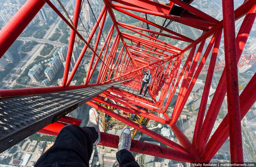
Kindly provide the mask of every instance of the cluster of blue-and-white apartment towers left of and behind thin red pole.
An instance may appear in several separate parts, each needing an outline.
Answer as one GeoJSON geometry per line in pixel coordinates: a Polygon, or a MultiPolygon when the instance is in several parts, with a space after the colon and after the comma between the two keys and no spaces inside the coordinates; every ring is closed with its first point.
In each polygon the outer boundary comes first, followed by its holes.
{"type": "MultiPolygon", "coordinates": [[[[65,61],[67,57],[68,48],[67,46],[62,46],[57,48],[54,53],[52,54],[52,57],[50,59],[44,60],[36,65],[34,65],[28,72],[28,76],[31,78],[32,82],[42,82],[42,84],[49,85],[56,75],[58,74],[59,70],[65,66],[65,61]],[[45,65],[46,68],[43,69],[42,65],[45,65]],[[44,75],[46,76],[46,79],[42,80],[42,71],[44,71],[44,75]]],[[[79,56],[79,49],[78,45],[75,44],[73,53],[72,53],[72,59],[70,63],[70,71],[72,71],[76,60],[79,56]]],[[[61,85],[60,82],[62,82],[61,79],[58,80],[58,85],[61,85]]],[[[72,81],[71,84],[76,85],[76,81],[72,81]]]]}

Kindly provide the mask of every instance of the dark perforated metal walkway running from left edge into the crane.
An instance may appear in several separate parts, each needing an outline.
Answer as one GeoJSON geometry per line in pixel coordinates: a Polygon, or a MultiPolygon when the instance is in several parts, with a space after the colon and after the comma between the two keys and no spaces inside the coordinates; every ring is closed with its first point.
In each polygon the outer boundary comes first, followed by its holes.
{"type": "Polygon", "coordinates": [[[118,83],[0,100],[0,152],[118,83]]]}

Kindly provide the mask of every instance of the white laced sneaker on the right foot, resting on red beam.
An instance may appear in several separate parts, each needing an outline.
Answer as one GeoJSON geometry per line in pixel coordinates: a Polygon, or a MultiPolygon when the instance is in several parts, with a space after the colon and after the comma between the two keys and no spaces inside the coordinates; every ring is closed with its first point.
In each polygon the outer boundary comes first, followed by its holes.
{"type": "Polygon", "coordinates": [[[132,136],[131,131],[128,127],[124,127],[119,135],[119,143],[118,143],[118,150],[126,149],[127,151],[130,150],[132,144],[132,136]]]}

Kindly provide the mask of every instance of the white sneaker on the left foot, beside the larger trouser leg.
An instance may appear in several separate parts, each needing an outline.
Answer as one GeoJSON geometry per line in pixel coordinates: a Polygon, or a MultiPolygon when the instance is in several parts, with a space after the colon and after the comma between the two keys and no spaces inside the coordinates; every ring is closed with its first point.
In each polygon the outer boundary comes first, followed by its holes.
{"type": "Polygon", "coordinates": [[[97,111],[94,108],[91,108],[89,111],[89,120],[87,126],[94,127],[96,132],[98,133],[98,138],[94,142],[94,144],[99,144],[100,142],[100,129],[99,129],[99,116],[97,111]]]}

